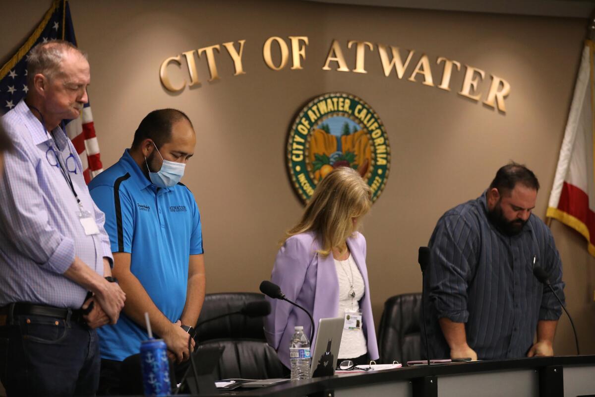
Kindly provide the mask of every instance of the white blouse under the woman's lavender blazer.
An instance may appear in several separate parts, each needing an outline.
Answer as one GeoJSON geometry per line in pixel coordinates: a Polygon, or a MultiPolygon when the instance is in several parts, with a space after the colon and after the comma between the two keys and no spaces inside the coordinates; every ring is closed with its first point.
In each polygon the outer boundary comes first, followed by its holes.
{"type": "MultiPolygon", "coordinates": [[[[359,300],[365,293],[365,285],[362,274],[359,273],[358,265],[353,260],[351,254],[345,261],[334,260],[337,270],[337,279],[339,279],[339,312],[337,317],[345,317],[346,310],[360,311],[359,300]],[[351,286],[355,296],[350,296],[351,286]]],[[[362,318],[363,320],[371,320],[362,318]]],[[[339,357],[337,358],[356,358],[368,352],[366,337],[364,331],[343,329],[343,337],[339,346],[339,357]]]]}

